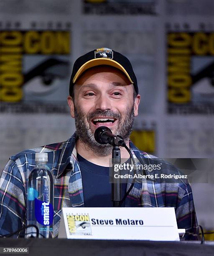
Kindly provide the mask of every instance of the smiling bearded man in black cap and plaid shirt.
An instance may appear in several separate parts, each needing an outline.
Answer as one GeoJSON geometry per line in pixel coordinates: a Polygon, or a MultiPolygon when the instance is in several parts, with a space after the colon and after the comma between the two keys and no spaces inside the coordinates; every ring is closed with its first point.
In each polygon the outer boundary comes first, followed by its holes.
{"type": "MultiPolygon", "coordinates": [[[[73,67],[68,104],[75,118],[76,132],[68,141],[23,151],[11,156],[0,180],[0,234],[6,235],[26,223],[26,184],[35,166],[35,153],[48,153],[48,166],[54,175],[53,235],[58,235],[62,207],[111,207],[109,166],[112,146],[94,139],[94,131],[106,126],[122,136],[136,164],[152,156],[129,141],[140,95],[130,61],[122,54],[100,48],[79,57],[73,67]],[[11,221],[12,220],[12,221],[11,221]]],[[[145,95],[146,96],[146,95],[145,95]]],[[[121,158],[129,159],[121,148],[121,158]]],[[[129,161],[129,160],[128,160],[129,161]]],[[[163,172],[178,170],[160,160],[163,172]]],[[[145,174],[150,174],[145,170],[145,174]]],[[[122,194],[133,179],[122,184],[122,194]]],[[[186,238],[196,238],[196,215],[192,191],[183,179],[160,182],[141,179],[125,199],[125,207],[175,207],[178,228],[186,228],[186,238]]]]}

